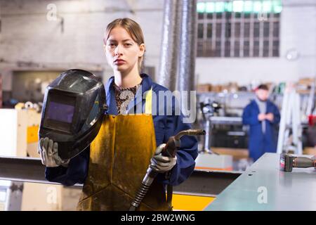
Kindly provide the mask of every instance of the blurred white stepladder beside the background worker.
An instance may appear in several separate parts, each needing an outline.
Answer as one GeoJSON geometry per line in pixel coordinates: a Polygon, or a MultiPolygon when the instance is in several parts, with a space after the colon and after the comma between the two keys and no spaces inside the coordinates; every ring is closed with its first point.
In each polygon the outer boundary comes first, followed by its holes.
{"type": "Polygon", "coordinates": [[[294,84],[287,83],[282,101],[281,121],[277,140],[277,153],[303,154],[301,100],[294,84]]]}

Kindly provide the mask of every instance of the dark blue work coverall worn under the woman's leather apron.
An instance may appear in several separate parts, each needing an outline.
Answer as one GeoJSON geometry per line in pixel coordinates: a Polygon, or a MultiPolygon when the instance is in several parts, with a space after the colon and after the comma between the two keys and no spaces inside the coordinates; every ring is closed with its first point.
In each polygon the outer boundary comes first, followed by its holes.
{"type": "MultiPolygon", "coordinates": [[[[143,99],[143,94],[145,91],[152,91],[159,97],[159,91],[168,91],[164,86],[152,82],[152,79],[146,75],[140,75],[143,80],[141,82],[141,89],[136,93],[136,97],[131,103],[129,103],[128,110],[134,108],[134,113],[137,113],[136,105],[145,105],[145,99],[143,99]]],[[[109,106],[106,114],[117,115],[117,105],[115,101],[115,91],[112,86],[114,82],[114,77],[110,77],[107,85],[105,86],[105,92],[107,97],[107,105],[109,106]]],[[[159,102],[162,98],[152,101],[152,104],[157,103],[157,115],[152,115],[154,121],[154,131],[156,136],[156,143],[159,146],[161,143],[166,143],[170,136],[176,135],[179,131],[185,129],[191,129],[191,125],[183,123],[183,115],[175,115],[175,98],[173,98],[172,103],[172,115],[167,115],[166,113],[166,97],[164,99],[164,104],[161,105],[159,102]],[[164,106],[160,108],[159,106],[164,106]],[[159,115],[159,110],[164,110],[164,115],[159,115]]],[[[144,110],[145,107],[138,107],[138,110],[144,110]]],[[[139,112],[144,113],[144,112],[139,112]]],[[[180,150],[177,153],[177,163],[171,169],[171,176],[166,179],[164,174],[159,174],[157,176],[158,181],[163,184],[171,184],[176,186],[185,179],[187,179],[190,174],[192,174],[195,168],[195,158],[197,158],[197,139],[195,136],[183,136],[181,139],[180,150]]],[[[139,156],[141,157],[141,156],[139,156]]],[[[48,181],[58,182],[65,186],[72,186],[74,184],[83,184],[86,176],[88,174],[88,162],[89,162],[89,148],[84,150],[82,153],[70,160],[68,167],[46,167],[45,176],[48,181]]],[[[124,168],[121,168],[124,169],[124,168]]],[[[144,174],[145,176],[145,174],[144,174]]],[[[133,178],[131,178],[133,179],[133,178]]]]}

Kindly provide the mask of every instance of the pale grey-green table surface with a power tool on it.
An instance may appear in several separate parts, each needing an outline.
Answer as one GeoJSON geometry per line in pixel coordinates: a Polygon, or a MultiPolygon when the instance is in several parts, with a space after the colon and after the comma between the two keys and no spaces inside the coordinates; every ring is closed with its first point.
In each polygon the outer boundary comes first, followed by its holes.
{"type": "Polygon", "coordinates": [[[316,210],[316,169],[282,172],[279,154],[265,153],[204,210],[316,210]]]}

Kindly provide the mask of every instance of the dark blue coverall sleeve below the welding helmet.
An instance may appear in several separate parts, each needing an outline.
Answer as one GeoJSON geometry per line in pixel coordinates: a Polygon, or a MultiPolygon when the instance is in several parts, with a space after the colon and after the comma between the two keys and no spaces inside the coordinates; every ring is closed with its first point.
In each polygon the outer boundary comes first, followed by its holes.
{"type": "Polygon", "coordinates": [[[74,184],[83,184],[88,174],[88,160],[90,148],[88,147],[82,153],[72,158],[68,167],[46,167],[45,178],[48,181],[72,186],[74,184]]]}

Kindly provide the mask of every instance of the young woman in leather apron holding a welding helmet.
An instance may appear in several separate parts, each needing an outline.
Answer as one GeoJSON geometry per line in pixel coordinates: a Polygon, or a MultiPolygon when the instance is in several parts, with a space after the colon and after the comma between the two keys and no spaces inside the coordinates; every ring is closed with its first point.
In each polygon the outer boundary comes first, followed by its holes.
{"type": "MultiPolygon", "coordinates": [[[[53,156],[42,159],[46,179],[66,186],[84,183],[78,210],[129,210],[150,165],[159,175],[138,210],[171,210],[165,187],[180,184],[193,172],[197,139],[183,136],[176,158],[154,154],[161,152],[170,136],[191,127],[176,115],[175,104],[172,115],[167,115],[167,98],[153,101],[159,91],[168,89],[140,74],[145,42],[138,23],[129,18],[112,21],[104,49],[114,76],[105,87],[109,108],[103,125],[90,148],[70,162],[53,156]],[[163,115],[152,113],[153,108],[163,115]]],[[[52,148],[53,140],[40,140],[41,152],[51,153],[52,148]]]]}

